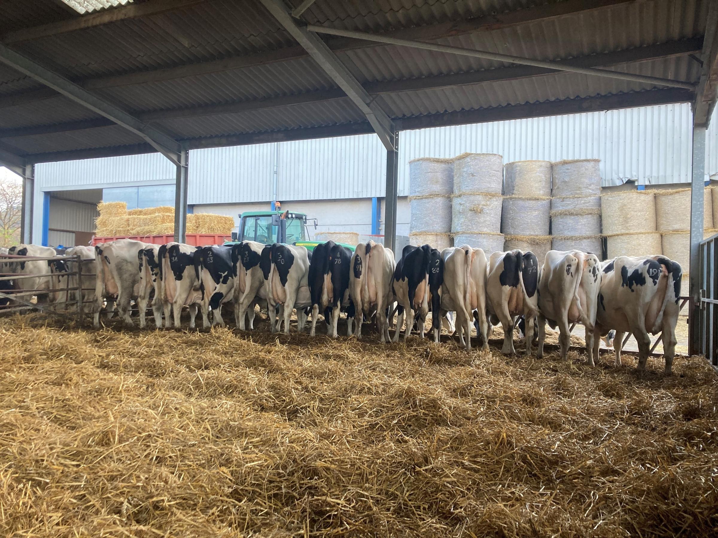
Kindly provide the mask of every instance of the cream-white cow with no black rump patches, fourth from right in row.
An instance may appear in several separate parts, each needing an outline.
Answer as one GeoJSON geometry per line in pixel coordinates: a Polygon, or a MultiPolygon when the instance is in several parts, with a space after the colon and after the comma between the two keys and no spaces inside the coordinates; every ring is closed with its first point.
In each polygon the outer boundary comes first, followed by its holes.
{"type": "Polygon", "coordinates": [[[482,350],[488,351],[489,324],[486,318],[486,278],[488,262],[484,251],[468,245],[442,250],[444,285],[442,310],[457,314],[457,334],[460,344],[471,349],[472,313],[475,311],[477,332],[482,350]],[[466,333],[466,342],[464,335],[466,333]]]}

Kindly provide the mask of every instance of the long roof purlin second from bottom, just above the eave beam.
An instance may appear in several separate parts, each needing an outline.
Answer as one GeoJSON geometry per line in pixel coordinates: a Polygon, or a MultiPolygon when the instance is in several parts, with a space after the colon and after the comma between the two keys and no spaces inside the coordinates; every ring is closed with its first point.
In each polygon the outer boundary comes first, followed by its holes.
{"type": "MultiPolygon", "coordinates": [[[[604,52],[597,55],[558,61],[566,62],[569,65],[580,65],[583,67],[618,65],[629,62],[645,62],[649,60],[690,55],[694,52],[700,52],[701,44],[702,39],[700,38],[684,39],[681,41],[647,45],[645,47],[635,47],[633,49],[604,52]]],[[[365,85],[364,88],[370,94],[396,93],[435,88],[456,88],[462,85],[475,85],[484,82],[520,80],[527,77],[551,75],[557,72],[560,71],[547,70],[542,67],[498,67],[491,70],[465,72],[457,75],[437,75],[407,80],[371,82],[370,84],[365,85]]],[[[236,103],[225,103],[222,105],[205,105],[199,107],[178,108],[174,110],[157,110],[136,113],[135,116],[141,121],[200,118],[210,115],[266,110],[268,108],[302,105],[308,103],[330,103],[332,101],[342,99],[347,99],[347,96],[344,92],[342,92],[342,90],[337,88],[335,90],[321,90],[318,92],[286,95],[279,98],[264,100],[238,101],[236,103]]],[[[96,120],[55,123],[47,126],[11,128],[0,130],[0,138],[14,138],[17,136],[36,136],[48,133],[60,133],[64,131],[78,131],[108,125],[113,125],[113,122],[106,120],[105,118],[98,118],[96,120]]]]}

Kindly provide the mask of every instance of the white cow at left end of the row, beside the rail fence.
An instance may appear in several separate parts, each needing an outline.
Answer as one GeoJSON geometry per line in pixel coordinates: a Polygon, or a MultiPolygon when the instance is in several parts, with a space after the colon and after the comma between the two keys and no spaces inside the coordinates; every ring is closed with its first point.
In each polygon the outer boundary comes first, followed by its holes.
{"type": "Polygon", "coordinates": [[[139,253],[149,243],[131,239],[118,239],[95,245],[95,319],[100,326],[100,311],[106,297],[117,298],[117,312],[123,321],[133,325],[130,318],[130,301],[139,296],[139,253]]]}

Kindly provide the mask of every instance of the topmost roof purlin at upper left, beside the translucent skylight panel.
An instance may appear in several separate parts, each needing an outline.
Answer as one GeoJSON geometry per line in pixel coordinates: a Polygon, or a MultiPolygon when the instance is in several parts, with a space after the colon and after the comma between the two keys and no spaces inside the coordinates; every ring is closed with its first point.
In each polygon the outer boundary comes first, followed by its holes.
{"type": "Polygon", "coordinates": [[[105,9],[98,13],[88,15],[76,14],[73,19],[65,21],[51,22],[50,24],[42,24],[29,28],[22,28],[7,32],[0,41],[9,44],[41,37],[50,37],[53,35],[67,34],[67,32],[75,32],[86,28],[101,26],[102,24],[110,24],[111,22],[126,21],[129,19],[138,19],[142,16],[158,15],[166,11],[176,11],[196,4],[202,4],[207,0],[153,0],[142,4],[128,4],[111,9],[105,9]]]}

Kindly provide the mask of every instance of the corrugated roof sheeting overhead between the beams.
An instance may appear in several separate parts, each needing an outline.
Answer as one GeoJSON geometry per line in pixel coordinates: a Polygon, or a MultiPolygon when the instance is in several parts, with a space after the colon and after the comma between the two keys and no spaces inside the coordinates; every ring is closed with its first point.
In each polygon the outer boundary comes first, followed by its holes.
{"type": "MultiPolygon", "coordinates": [[[[50,8],[45,4],[47,2],[42,0],[4,1],[0,4],[0,21],[6,16],[9,22],[0,22],[0,28],[15,30],[72,18],[62,8],[58,11],[57,6],[50,8]],[[23,14],[21,4],[27,13],[23,14]],[[34,12],[35,7],[37,12],[34,12]]],[[[299,1],[295,0],[294,4],[298,5],[299,1]]],[[[375,0],[370,3],[317,0],[305,12],[304,18],[314,24],[381,32],[465,21],[543,4],[546,2],[531,0],[375,0]]],[[[701,37],[705,31],[708,5],[709,0],[627,2],[508,27],[499,25],[495,29],[439,39],[439,42],[543,60],[566,59],[701,37]]],[[[208,0],[174,11],[39,37],[12,46],[62,75],[82,82],[105,75],[146,72],[297,47],[297,43],[279,27],[279,23],[258,0],[208,0]]],[[[362,83],[440,76],[508,65],[493,60],[381,44],[339,52],[338,56],[362,83]]],[[[615,69],[691,82],[699,76],[698,63],[687,56],[633,63],[615,69]]],[[[0,68],[0,96],[34,88],[41,87],[14,70],[0,68]]],[[[210,75],[92,91],[127,110],[143,113],[258,101],[333,88],[336,88],[335,82],[314,60],[305,56],[210,75]]],[[[386,93],[382,95],[381,102],[392,118],[407,118],[651,88],[654,85],[562,73],[386,93]]],[[[62,97],[0,108],[1,128],[97,117],[62,97]]],[[[335,100],[167,120],[157,124],[167,128],[173,136],[186,140],[363,121],[365,118],[353,103],[335,100]]],[[[27,154],[45,153],[50,151],[48,148],[72,150],[119,146],[136,141],[134,136],[122,136],[113,129],[95,129],[92,132],[95,136],[68,133],[65,137],[47,134],[4,140],[27,154]]]]}

